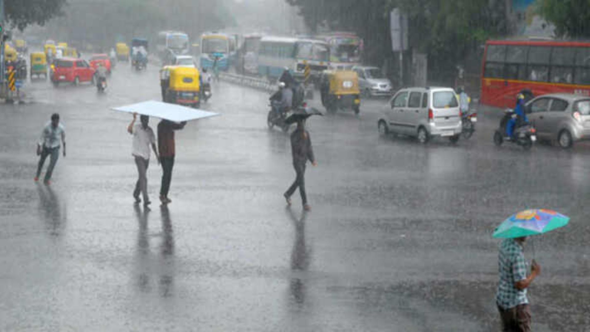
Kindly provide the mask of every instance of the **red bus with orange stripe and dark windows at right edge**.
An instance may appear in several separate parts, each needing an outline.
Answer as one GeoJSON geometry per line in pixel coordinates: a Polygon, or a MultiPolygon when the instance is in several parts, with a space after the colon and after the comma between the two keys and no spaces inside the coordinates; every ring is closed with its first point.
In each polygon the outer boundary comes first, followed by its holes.
{"type": "Polygon", "coordinates": [[[513,108],[516,95],[576,93],[590,96],[590,43],[487,41],[481,71],[481,103],[513,108]]]}

